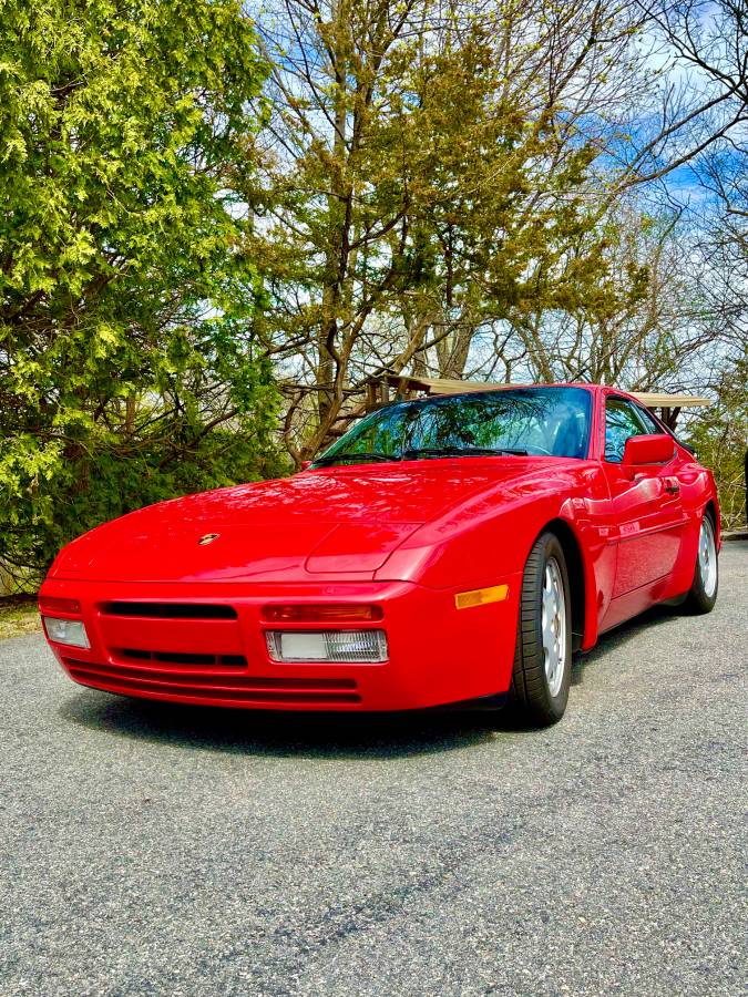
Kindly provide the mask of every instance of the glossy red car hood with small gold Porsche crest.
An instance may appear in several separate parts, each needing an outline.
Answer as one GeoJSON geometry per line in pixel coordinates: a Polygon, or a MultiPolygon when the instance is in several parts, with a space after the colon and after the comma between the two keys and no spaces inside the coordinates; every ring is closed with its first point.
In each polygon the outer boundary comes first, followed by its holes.
{"type": "Polygon", "coordinates": [[[50,577],[298,582],[345,574],[371,578],[419,526],[478,492],[524,476],[527,464],[518,458],[471,458],[329,467],[187,495],[84,534],[60,553],[50,577]],[[208,534],[216,536],[206,542],[208,534]]]}

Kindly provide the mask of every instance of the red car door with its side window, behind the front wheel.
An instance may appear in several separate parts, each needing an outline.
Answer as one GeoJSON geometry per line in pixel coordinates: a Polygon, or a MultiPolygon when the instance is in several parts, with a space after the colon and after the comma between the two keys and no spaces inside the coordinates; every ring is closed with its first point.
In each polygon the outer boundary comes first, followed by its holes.
{"type": "Polygon", "coordinates": [[[662,429],[639,405],[621,395],[606,397],[603,469],[618,536],[614,599],[668,575],[680,548],[684,514],[675,445],[665,464],[623,463],[629,436],[659,433],[662,429]]]}

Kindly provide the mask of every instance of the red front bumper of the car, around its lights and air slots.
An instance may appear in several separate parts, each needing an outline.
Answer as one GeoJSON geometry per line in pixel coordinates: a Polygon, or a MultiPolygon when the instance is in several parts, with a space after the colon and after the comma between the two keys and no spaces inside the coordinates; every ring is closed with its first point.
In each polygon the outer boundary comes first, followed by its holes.
{"type": "MultiPolygon", "coordinates": [[[[146,699],[283,710],[401,710],[509,688],[516,634],[514,578],[501,603],[458,610],[454,592],[406,582],[252,585],[48,579],[41,595],[81,604],[90,649],[50,646],[76,682],[146,699]],[[123,602],[230,606],[235,618],[115,615],[123,602]],[[270,660],[262,609],[273,603],[366,603],[387,633],[382,664],[270,660]]],[[[286,625],[284,625],[286,627],[286,625]]],[[[293,628],[294,625],[287,625],[293,628]]],[[[357,625],[359,626],[359,625],[357,625]]],[[[366,625],[360,625],[366,626],[366,625]]],[[[309,624],[298,626],[309,629],[309,624]]],[[[329,624],[320,624],[320,629],[329,624]]]]}

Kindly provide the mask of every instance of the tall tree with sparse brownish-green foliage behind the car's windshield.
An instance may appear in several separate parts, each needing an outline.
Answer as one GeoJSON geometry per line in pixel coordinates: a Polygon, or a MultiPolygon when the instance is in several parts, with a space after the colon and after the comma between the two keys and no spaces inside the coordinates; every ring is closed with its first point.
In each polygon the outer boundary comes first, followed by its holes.
{"type": "MultiPolygon", "coordinates": [[[[454,24],[432,0],[385,9],[342,2],[326,20],[287,0],[266,25],[273,141],[247,197],[269,192],[273,209],[250,245],[270,302],[262,332],[296,378],[297,462],[339,435],[367,372],[424,366],[431,350],[439,374],[461,377],[481,329],[621,298],[588,197],[601,145],[545,79],[555,44],[492,4],[454,24]]],[[[618,35],[616,17],[592,33],[618,35]]]]}

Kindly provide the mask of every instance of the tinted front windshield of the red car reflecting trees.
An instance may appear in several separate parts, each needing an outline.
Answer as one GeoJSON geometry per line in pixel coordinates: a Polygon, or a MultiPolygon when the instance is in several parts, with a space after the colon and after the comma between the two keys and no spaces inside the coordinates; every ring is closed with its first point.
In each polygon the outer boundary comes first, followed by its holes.
{"type": "Polygon", "coordinates": [[[591,409],[584,388],[513,388],[399,402],[362,419],[315,466],[494,453],[584,458],[591,409]]]}

